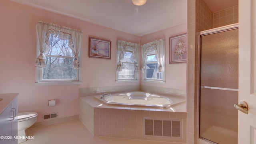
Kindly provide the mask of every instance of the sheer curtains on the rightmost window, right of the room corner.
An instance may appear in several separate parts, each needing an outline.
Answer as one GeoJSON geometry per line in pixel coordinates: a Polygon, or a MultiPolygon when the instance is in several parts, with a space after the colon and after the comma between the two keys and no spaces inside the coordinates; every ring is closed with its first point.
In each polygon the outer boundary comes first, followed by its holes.
{"type": "Polygon", "coordinates": [[[142,55],[142,68],[141,72],[144,72],[146,68],[146,62],[148,59],[148,54],[155,54],[156,60],[158,61],[158,70],[159,72],[163,71],[164,64],[164,54],[165,54],[165,40],[160,39],[154,42],[149,42],[141,46],[141,55],[142,55]]]}

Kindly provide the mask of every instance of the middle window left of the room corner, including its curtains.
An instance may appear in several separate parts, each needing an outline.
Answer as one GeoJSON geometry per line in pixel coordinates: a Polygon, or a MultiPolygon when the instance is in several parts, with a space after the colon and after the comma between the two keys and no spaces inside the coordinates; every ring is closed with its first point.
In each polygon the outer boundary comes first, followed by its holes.
{"type": "Polygon", "coordinates": [[[116,81],[138,80],[138,44],[117,42],[116,81]]]}

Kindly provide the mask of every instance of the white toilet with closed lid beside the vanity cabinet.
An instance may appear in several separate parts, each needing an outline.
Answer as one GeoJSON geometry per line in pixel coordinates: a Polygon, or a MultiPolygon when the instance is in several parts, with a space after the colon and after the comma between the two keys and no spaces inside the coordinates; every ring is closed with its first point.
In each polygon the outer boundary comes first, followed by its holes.
{"type": "MultiPolygon", "coordinates": [[[[36,112],[18,113],[18,136],[26,136],[25,130],[36,122],[37,115],[36,112]]],[[[18,144],[25,141],[26,139],[18,139],[18,144]]]]}

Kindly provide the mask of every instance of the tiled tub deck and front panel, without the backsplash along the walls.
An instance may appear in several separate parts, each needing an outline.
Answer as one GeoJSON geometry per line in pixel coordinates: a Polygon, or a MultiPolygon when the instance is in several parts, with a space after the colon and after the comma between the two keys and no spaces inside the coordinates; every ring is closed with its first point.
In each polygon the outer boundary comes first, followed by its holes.
{"type": "Polygon", "coordinates": [[[170,108],[150,108],[106,105],[95,96],[82,96],[79,105],[79,118],[94,136],[186,143],[186,102],[170,108]],[[179,120],[181,135],[148,136],[144,132],[145,119],[179,120]]]}

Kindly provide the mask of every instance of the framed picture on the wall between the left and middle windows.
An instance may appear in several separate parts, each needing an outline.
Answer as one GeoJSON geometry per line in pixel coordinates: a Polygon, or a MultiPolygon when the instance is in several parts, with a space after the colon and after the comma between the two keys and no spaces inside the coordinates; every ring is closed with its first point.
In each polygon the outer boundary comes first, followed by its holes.
{"type": "Polygon", "coordinates": [[[89,58],[111,59],[111,41],[89,37],[89,58]]]}

